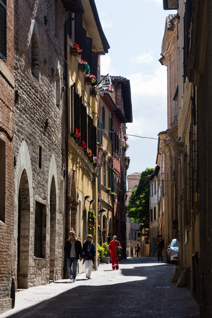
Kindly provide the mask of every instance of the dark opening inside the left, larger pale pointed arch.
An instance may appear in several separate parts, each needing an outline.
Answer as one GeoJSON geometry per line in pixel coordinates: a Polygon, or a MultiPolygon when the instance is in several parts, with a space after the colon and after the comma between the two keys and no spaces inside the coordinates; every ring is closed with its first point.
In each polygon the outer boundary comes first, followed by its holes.
{"type": "Polygon", "coordinates": [[[28,288],[30,247],[30,193],[24,169],[18,190],[17,288],[28,288]]]}

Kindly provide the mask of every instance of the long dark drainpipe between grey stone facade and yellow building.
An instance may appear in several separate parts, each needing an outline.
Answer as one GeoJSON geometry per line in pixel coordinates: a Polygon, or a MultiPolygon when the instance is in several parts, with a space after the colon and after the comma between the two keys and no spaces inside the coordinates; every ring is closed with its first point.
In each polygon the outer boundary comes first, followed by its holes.
{"type": "MultiPolygon", "coordinates": [[[[67,65],[67,59],[68,59],[68,52],[67,52],[67,24],[71,23],[72,21],[76,20],[77,18],[81,17],[83,13],[85,12],[83,9],[83,5],[81,3],[81,0],[77,0],[77,4],[80,10],[80,14],[78,16],[73,17],[72,19],[69,19],[65,22],[64,26],[64,33],[65,33],[65,162],[66,162],[66,178],[65,178],[65,239],[67,240],[69,237],[69,227],[68,227],[68,65],[67,65]]],[[[67,278],[67,259],[65,257],[65,268],[64,268],[64,278],[67,278]]]]}

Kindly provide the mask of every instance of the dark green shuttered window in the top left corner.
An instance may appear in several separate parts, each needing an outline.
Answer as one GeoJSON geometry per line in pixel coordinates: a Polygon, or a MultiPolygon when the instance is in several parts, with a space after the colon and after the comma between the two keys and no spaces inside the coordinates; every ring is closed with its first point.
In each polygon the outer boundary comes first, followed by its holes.
{"type": "Polygon", "coordinates": [[[0,58],[7,62],[7,0],[0,0],[0,58]]]}

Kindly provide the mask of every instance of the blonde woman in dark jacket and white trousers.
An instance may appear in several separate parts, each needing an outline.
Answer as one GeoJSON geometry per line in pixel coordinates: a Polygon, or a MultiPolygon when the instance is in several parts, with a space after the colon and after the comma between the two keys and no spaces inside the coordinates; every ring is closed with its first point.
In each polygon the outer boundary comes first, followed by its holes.
{"type": "Polygon", "coordinates": [[[96,255],[95,246],[92,242],[92,235],[87,235],[85,243],[83,244],[83,263],[85,262],[85,275],[87,279],[91,279],[92,264],[94,263],[94,256],[96,255]]]}

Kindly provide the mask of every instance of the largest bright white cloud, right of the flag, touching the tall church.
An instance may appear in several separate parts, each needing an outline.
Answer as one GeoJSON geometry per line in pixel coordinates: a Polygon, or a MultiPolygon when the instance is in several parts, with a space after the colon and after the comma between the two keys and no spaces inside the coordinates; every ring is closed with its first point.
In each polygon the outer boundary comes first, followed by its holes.
{"type": "Polygon", "coordinates": [[[143,73],[131,74],[131,93],[143,96],[167,96],[167,70],[166,67],[158,67],[154,73],[146,75],[143,73]]]}

